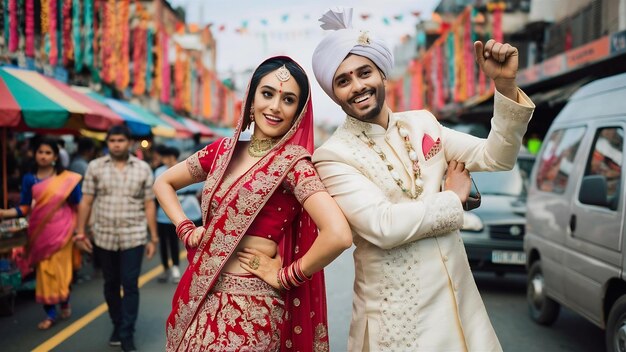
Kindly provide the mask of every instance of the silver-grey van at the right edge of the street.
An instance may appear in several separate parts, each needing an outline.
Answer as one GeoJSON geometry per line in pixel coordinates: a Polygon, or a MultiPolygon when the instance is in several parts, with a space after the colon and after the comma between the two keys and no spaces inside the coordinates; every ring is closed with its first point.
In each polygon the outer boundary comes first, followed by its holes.
{"type": "Polygon", "coordinates": [[[606,330],[607,351],[626,351],[625,131],[626,74],[580,88],[544,139],[526,213],[531,317],[550,325],[564,305],[606,330]]]}

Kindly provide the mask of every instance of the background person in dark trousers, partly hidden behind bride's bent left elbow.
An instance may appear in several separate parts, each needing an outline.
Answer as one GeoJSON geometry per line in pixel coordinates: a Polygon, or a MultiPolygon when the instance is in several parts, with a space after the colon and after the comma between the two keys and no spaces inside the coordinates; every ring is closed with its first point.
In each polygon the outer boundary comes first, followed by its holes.
{"type": "MultiPolygon", "coordinates": [[[[163,165],[154,171],[155,178],[178,163],[180,151],[175,147],[163,147],[160,150],[160,154],[163,165]]],[[[183,211],[196,226],[202,225],[202,211],[196,194],[202,190],[203,184],[203,182],[194,183],[176,191],[183,211]]],[[[178,283],[180,281],[180,269],[178,267],[180,249],[178,236],[176,235],[176,226],[174,226],[160,206],[157,209],[157,230],[161,245],[161,264],[163,265],[163,274],[157,280],[159,282],[167,282],[169,280],[173,283],[178,283]],[[169,264],[170,257],[172,259],[171,267],[169,264]]]]}

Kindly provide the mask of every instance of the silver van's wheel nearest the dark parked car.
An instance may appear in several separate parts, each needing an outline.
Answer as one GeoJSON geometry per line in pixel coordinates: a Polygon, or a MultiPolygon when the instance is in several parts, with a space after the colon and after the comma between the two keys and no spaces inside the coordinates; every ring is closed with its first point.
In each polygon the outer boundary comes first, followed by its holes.
{"type": "Polygon", "coordinates": [[[559,316],[561,306],[546,295],[540,260],[534,262],[528,270],[526,300],[530,317],[541,325],[551,325],[559,316]]]}

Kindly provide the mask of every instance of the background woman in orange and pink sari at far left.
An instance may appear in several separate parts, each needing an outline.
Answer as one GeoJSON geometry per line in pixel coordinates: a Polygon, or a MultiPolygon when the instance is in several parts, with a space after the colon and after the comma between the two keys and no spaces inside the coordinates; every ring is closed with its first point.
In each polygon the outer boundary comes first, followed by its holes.
{"type": "Polygon", "coordinates": [[[18,265],[22,273],[36,269],[35,298],[44,305],[46,318],[39,329],[49,329],[57,320],[69,318],[72,281],[72,234],[76,226],[76,205],[80,202],[81,176],[64,170],[59,147],[43,139],[35,150],[35,167],[22,179],[20,206],[0,209],[0,218],[29,215],[28,245],[18,265]]]}

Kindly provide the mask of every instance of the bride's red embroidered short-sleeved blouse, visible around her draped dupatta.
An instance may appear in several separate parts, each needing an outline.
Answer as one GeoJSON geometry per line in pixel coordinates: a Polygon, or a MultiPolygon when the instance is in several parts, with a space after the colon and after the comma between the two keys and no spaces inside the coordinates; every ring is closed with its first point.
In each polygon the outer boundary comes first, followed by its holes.
{"type": "MultiPolygon", "coordinates": [[[[216,159],[215,154],[219,149],[217,148],[219,142],[218,140],[187,158],[187,168],[194,180],[201,182],[208,176],[216,159]]],[[[235,181],[236,179],[226,176],[218,184],[208,207],[209,215],[213,214],[214,209],[235,181]]],[[[300,160],[287,173],[280,187],[261,208],[246,231],[246,235],[263,237],[279,243],[285,234],[285,228],[293,222],[300,211],[301,204],[312,194],[320,191],[326,191],[326,188],[313,167],[313,163],[308,159],[300,160]]],[[[204,219],[206,221],[207,217],[204,216],[204,219]]]]}

